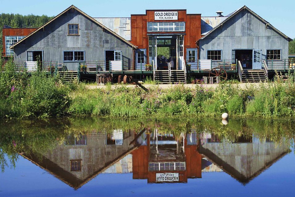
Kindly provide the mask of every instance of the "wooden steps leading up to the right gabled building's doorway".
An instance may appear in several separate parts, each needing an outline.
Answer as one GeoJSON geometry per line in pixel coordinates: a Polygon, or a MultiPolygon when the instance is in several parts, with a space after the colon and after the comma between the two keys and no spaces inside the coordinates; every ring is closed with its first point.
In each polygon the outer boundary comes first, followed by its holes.
{"type": "Polygon", "coordinates": [[[263,69],[261,70],[243,70],[242,74],[242,82],[249,82],[249,83],[255,83],[255,82],[266,82],[267,76],[263,69]]]}

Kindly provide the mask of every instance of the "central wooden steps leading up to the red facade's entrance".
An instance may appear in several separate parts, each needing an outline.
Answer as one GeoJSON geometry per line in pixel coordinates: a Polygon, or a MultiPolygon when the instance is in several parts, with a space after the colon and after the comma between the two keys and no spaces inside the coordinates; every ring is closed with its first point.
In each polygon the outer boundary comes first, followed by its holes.
{"type": "Polygon", "coordinates": [[[155,70],[155,80],[159,83],[186,83],[184,70],[155,70]],[[171,74],[169,73],[171,72],[171,74]]]}

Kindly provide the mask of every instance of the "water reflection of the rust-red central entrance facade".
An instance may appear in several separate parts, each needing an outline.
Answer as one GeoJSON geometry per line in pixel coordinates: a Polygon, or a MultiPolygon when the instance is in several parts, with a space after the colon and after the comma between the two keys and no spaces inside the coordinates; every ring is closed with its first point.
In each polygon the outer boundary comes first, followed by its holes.
{"type": "Polygon", "coordinates": [[[146,145],[132,152],[133,179],[147,179],[156,183],[157,174],[178,173],[178,182],[201,178],[202,156],[197,152],[196,135],[178,139],[175,135],[159,135],[157,131],[146,136],[146,145]],[[187,140],[189,139],[189,140],[187,140]],[[193,140],[190,140],[193,139],[193,140]]]}

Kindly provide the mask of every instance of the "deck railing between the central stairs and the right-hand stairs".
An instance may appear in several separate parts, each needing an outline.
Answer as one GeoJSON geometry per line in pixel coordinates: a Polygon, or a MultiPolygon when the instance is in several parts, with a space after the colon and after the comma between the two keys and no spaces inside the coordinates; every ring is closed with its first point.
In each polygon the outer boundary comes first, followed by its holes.
{"type": "Polygon", "coordinates": [[[221,67],[224,70],[238,70],[238,60],[232,60],[232,59],[224,59],[224,60],[212,60],[211,61],[211,65],[210,67],[206,66],[206,67],[202,67],[202,65],[200,64],[200,60],[189,60],[186,61],[186,67],[187,70],[208,70],[208,69],[212,69],[212,68],[216,68],[216,67],[221,67]]]}

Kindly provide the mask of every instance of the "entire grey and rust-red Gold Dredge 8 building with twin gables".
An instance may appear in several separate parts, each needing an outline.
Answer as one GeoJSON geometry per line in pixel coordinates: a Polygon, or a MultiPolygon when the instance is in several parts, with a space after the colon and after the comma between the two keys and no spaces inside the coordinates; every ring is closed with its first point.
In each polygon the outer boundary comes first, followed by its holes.
{"type": "Polygon", "coordinates": [[[146,10],[125,18],[92,18],[70,6],[9,49],[30,72],[40,57],[48,74],[70,71],[84,79],[151,75],[163,83],[186,83],[188,74],[216,76],[219,69],[218,75],[255,82],[271,78],[275,70],[294,70],[289,41],[247,6],[226,16],[146,10]]]}

